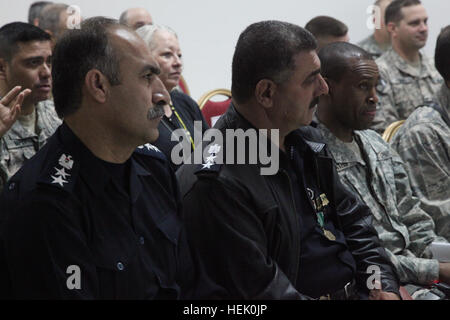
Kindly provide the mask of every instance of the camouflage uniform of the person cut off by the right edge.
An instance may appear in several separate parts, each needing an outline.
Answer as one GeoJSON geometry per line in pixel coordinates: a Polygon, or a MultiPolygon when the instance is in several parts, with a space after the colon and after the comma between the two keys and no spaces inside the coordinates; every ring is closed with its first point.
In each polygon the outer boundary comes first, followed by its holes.
{"type": "MultiPolygon", "coordinates": [[[[442,86],[438,103],[450,115],[450,90],[442,86]]],[[[417,109],[391,141],[406,164],[414,194],[450,241],[450,128],[439,112],[417,109]]]]}

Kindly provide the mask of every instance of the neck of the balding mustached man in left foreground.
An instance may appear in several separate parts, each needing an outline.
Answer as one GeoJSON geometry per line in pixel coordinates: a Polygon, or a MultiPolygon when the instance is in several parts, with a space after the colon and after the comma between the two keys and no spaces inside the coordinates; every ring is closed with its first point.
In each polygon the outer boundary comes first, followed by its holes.
{"type": "Polygon", "coordinates": [[[80,109],[66,117],[64,121],[97,158],[111,163],[125,163],[138,144],[130,147],[130,143],[124,141],[124,137],[120,137],[113,132],[114,130],[99,122],[99,117],[92,114],[86,116],[84,113],[85,111],[80,109]]]}

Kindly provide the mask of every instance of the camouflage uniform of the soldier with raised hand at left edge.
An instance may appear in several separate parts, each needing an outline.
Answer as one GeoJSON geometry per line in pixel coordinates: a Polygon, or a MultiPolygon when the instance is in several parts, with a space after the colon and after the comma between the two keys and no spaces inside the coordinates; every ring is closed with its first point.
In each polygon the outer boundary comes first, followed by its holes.
{"type": "Polygon", "coordinates": [[[36,133],[26,130],[16,121],[0,139],[0,191],[23,165],[47,142],[61,124],[53,101],[46,100],[36,106],[36,133]]]}

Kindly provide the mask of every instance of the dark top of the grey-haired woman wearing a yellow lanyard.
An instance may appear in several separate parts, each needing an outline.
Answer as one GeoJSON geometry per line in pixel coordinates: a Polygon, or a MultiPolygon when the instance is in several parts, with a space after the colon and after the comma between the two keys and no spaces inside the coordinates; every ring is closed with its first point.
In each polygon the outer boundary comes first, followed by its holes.
{"type": "MultiPolygon", "coordinates": [[[[158,127],[159,137],[153,143],[164,153],[167,159],[171,159],[172,149],[178,144],[178,140],[171,140],[172,133],[177,129],[184,129],[183,124],[188,131],[188,134],[186,133],[183,139],[188,139],[188,141],[190,140],[189,136],[192,138],[192,141],[194,140],[194,121],[201,121],[202,133],[209,129],[208,123],[205,121],[200,108],[191,97],[180,91],[173,90],[170,93],[170,98],[172,99],[172,105],[183,123],[178,119],[175,112],[172,112],[170,118],[164,116],[158,127]]],[[[193,150],[191,149],[191,151],[193,150]]],[[[172,161],[170,161],[170,164],[174,170],[180,167],[180,165],[175,165],[172,161]]]]}

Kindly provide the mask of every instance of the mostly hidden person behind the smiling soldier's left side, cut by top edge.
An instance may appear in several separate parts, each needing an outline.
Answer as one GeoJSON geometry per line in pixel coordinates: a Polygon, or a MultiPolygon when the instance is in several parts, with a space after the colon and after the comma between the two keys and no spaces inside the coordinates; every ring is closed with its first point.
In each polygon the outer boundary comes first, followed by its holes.
{"type": "Polygon", "coordinates": [[[369,52],[374,59],[379,58],[391,47],[389,32],[387,31],[384,23],[384,13],[386,11],[386,7],[391,3],[391,1],[392,0],[377,0],[375,2],[375,7],[378,7],[379,9],[379,11],[374,12],[374,18],[376,19],[375,31],[373,34],[358,43],[358,46],[369,52]]]}

